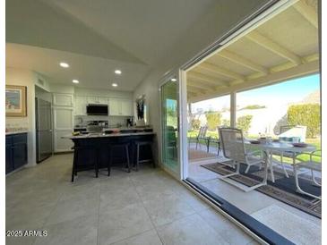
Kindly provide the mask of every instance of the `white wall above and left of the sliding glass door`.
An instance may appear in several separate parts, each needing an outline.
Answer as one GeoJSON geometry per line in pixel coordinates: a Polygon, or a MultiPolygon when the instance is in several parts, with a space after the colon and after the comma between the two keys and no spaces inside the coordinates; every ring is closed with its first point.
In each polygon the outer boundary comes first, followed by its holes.
{"type": "Polygon", "coordinates": [[[222,37],[228,30],[236,26],[239,21],[244,20],[247,15],[254,13],[254,11],[265,2],[267,1],[219,1],[209,13],[202,16],[200,21],[194,23],[190,30],[185,32],[183,38],[178,40],[175,46],[172,46],[170,52],[167,53],[167,57],[162,59],[160,66],[154,68],[134,90],[134,99],[140,95],[145,95],[145,99],[148,100],[150,110],[149,120],[153,125],[153,129],[157,132],[159,164],[161,164],[160,80],[168,71],[176,71],[178,67],[182,66],[195,55],[199,54],[203,49],[210,46],[215,40],[222,37]]]}

